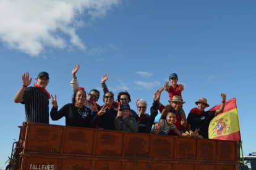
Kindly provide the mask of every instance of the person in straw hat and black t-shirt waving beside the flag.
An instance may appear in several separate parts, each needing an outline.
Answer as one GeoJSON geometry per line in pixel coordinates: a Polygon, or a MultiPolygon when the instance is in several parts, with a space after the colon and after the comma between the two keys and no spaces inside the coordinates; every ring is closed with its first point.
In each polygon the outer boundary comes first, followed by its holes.
{"type": "Polygon", "coordinates": [[[208,128],[211,119],[213,119],[218,114],[224,111],[226,94],[221,93],[222,103],[220,109],[215,111],[205,111],[205,108],[210,107],[207,103],[207,99],[200,98],[195,104],[197,108],[190,110],[189,116],[187,116],[187,131],[193,133],[195,129],[200,129],[198,131],[198,138],[208,139],[208,128]]]}

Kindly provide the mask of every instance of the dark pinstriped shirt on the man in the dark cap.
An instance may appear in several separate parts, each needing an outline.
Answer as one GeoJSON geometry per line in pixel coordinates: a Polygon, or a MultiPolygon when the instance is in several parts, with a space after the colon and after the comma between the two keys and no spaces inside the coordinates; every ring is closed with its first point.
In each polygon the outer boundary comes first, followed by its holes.
{"type": "Polygon", "coordinates": [[[27,87],[22,96],[27,121],[49,124],[49,99],[38,87],[27,87]]]}

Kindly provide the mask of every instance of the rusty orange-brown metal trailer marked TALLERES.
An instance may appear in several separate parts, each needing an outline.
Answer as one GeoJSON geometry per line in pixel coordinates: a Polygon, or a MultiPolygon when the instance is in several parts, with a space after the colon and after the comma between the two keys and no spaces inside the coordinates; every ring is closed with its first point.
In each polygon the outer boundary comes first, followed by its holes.
{"type": "Polygon", "coordinates": [[[240,169],[240,143],[228,140],[23,123],[14,169],[240,169]]]}

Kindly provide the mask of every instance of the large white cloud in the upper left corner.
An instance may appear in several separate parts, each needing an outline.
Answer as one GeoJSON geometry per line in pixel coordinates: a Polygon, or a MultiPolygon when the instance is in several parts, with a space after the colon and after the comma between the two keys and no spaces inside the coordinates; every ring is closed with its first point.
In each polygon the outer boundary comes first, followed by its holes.
{"type": "Polygon", "coordinates": [[[76,30],[92,26],[89,17],[102,18],[120,3],[121,0],[1,0],[0,40],[9,49],[31,56],[41,54],[46,47],[86,51],[76,30]],[[82,20],[85,17],[87,21],[82,20]]]}

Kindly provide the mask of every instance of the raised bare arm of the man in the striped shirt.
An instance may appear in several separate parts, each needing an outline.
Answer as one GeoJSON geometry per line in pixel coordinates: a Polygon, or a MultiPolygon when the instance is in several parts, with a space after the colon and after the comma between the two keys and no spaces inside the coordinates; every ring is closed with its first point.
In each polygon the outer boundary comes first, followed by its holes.
{"type": "Polygon", "coordinates": [[[20,87],[19,91],[15,94],[14,96],[14,102],[15,103],[20,103],[23,102],[23,94],[25,92],[25,90],[27,89],[27,87],[24,86],[29,86],[30,83],[32,81],[32,78],[29,79],[29,73],[27,72],[26,75],[25,73],[22,75],[22,87],[20,87]]]}

